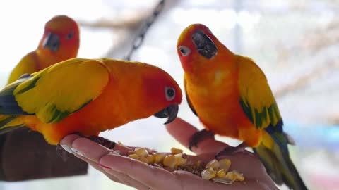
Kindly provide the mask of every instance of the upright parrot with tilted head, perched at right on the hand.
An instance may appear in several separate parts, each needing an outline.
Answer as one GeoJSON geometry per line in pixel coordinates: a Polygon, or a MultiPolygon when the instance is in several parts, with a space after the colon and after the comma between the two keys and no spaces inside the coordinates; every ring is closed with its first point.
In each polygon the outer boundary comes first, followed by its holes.
{"type": "Polygon", "coordinates": [[[250,58],[232,53],[208,27],[189,25],[177,42],[184,69],[186,99],[206,129],[191,137],[190,148],[204,136],[220,134],[244,141],[223,153],[254,148],[277,184],[307,189],[290,159],[283,120],[266,76],[250,58]]]}

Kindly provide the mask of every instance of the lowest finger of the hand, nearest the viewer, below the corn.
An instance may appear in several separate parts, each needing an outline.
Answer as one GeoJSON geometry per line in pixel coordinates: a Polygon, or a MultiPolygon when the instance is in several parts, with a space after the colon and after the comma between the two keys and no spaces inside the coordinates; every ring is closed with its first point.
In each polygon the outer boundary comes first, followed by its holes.
{"type": "Polygon", "coordinates": [[[160,167],[153,167],[131,158],[114,154],[103,156],[99,163],[128,175],[145,184],[145,186],[149,186],[150,189],[179,189],[177,177],[160,167]]]}

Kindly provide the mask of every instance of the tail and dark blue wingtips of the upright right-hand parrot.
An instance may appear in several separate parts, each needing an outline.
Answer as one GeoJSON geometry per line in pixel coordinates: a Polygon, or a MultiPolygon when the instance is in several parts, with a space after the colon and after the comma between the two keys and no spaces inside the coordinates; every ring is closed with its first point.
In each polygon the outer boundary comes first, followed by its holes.
{"type": "Polygon", "coordinates": [[[290,158],[287,144],[292,144],[292,141],[283,132],[283,122],[278,122],[275,127],[270,125],[265,130],[263,142],[253,149],[266,167],[268,175],[278,185],[286,184],[293,190],[307,190],[290,158]]]}

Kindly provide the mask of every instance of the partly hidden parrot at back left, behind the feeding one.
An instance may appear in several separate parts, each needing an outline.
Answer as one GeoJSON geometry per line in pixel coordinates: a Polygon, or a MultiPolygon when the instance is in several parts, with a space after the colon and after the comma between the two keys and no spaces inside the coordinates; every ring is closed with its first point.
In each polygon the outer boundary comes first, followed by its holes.
{"type": "Polygon", "coordinates": [[[54,16],[44,25],[44,34],[35,51],[24,56],[12,70],[7,84],[25,73],[33,73],[54,63],[75,58],[79,49],[79,27],[66,15],[54,16]]]}

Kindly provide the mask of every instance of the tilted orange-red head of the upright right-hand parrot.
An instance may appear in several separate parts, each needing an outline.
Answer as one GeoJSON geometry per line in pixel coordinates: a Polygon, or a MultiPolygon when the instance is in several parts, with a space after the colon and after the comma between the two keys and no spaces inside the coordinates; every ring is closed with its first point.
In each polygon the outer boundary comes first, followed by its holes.
{"type": "Polygon", "coordinates": [[[208,68],[218,58],[218,51],[226,47],[202,24],[186,27],[177,41],[177,53],[185,72],[194,72],[196,68],[208,68]]]}

